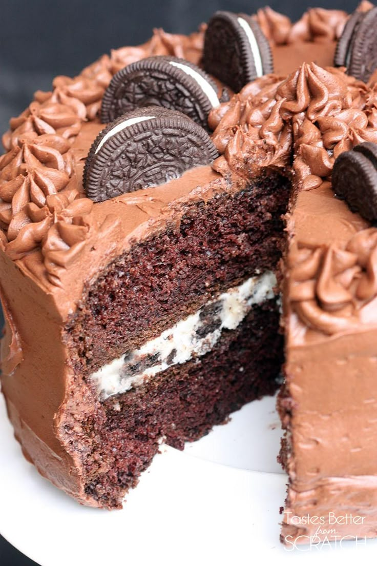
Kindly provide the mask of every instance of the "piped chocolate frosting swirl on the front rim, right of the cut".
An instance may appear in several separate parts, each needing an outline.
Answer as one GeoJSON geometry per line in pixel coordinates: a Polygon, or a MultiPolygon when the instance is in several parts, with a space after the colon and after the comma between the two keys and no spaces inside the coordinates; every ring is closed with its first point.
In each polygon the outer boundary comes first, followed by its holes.
{"type": "Polygon", "coordinates": [[[314,331],[333,335],[375,324],[377,229],[361,230],[344,246],[307,247],[289,255],[292,311],[314,331]]]}

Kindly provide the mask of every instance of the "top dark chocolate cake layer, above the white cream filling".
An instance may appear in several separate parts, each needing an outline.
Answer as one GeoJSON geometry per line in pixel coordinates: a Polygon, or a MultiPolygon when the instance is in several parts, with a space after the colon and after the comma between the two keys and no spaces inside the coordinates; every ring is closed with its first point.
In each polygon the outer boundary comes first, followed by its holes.
{"type": "Polygon", "coordinates": [[[98,370],[221,291],[275,269],[288,186],[279,173],[262,170],[236,194],[187,203],[178,225],[110,263],[66,325],[75,371],[98,370]]]}

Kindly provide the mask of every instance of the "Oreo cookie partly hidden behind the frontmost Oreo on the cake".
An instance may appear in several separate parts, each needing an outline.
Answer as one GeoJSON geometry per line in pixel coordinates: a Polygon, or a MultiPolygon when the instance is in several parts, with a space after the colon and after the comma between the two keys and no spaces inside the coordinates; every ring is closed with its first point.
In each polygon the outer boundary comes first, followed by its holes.
{"type": "Polygon", "coordinates": [[[220,104],[213,79],[193,63],[164,55],[141,59],[118,71],[102,99],[102,122],[141,106],[179,110],[208,129],[210,111],[220,104]]]}

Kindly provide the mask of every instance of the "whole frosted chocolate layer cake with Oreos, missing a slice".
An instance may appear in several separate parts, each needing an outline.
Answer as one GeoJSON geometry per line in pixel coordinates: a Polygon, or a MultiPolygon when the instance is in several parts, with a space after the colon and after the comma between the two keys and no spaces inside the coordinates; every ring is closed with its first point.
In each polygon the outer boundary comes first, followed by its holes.
{"type": "Polygon", "coordinates": [[[282,541],[323,539],[305,516],[348,511],[367,517],[340,535],[375,535],[377,230],[331,183],[339,156],[377,143],[375,66],[356,78],[335,51],[374,38],[350,45],[347,21],[217,12],[56,78],[11,120],[2,391],[25,456],[80,503],[121,507],[162,442],[271,395],[284,362],[282,541]]]}

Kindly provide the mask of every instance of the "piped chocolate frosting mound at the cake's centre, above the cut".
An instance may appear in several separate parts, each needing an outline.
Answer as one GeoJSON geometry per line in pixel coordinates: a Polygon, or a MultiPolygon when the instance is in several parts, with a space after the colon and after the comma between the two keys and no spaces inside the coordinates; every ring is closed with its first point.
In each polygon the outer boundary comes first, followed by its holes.
{"type": "MultiPolygon", "coordinates": [[[[298,186],[319,187],[330,178],[339,153],[361,141],[377,142],[376,93],[362,82],[332,67],[304,63],[287,79],[258,79],[210,114],[213,140],[234,169],[235,151],[245,177],[255,166],[283,168],[291,159],[298,186]]],[[[219,165],[215,162],[215,168],[219,165]]],[[[219,170],[219,169],[218,169],[219,170]]]]}

